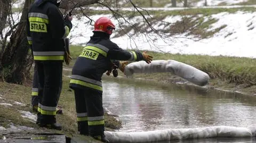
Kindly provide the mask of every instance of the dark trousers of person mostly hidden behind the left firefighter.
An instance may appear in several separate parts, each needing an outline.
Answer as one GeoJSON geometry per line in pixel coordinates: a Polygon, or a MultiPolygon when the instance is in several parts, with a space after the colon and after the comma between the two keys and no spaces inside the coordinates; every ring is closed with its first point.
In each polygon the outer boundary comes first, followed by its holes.
{"type": "MultiPolygon", "coordinates": [[[[58,94],[58,99],[57,99],[57,103],[59,102],[59,98],[60,98],[60,93],[61,93],[61,89],[62,89],[62,79],[61,79],[61,84],[59,87],[59,94],[58,94]]],[[[33,88],[32,88],[32,93],[31,93],[31,105],[33,108],[38,107],[38,85],[39,85],[39,81],[38,81],[38,73],[37,73],[37,68],[36,65],[34,67],[34,78],[33,78],[33,88]]]]}

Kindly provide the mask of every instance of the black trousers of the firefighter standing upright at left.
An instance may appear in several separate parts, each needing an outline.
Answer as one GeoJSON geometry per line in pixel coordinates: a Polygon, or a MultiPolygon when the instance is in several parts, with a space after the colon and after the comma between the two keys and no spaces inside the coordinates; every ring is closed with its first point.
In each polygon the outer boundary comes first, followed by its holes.
{"type": "Polygon", "coordinates": [[[35,61],[38,73],[38,121],[56,123],[56,106],[62,81],[62,61],[35,61]]]}

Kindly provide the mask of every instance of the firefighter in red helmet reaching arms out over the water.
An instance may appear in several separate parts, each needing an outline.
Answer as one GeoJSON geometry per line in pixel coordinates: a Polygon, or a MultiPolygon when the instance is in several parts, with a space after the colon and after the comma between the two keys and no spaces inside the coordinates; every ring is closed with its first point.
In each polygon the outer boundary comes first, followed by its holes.
{"type": "Polygon", "coordinates": [[[104,135],[101,77],[114,63],[124,71],[127,62],[151,63],[153,56],[146,52],[128,52],[110,41],[115,25],[106,17],[94,23],[93,36],[78,56],[73,66],[69,87],[75,91],[78,131],[102,142],[108,142],[104,135]],[[115,61],[113,61],[115,60],[115,61]]]}

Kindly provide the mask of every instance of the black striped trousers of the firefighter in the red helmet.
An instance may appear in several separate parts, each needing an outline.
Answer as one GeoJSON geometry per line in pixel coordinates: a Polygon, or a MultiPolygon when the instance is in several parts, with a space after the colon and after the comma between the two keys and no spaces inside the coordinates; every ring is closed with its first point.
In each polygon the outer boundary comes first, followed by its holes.
{"type": "Polygon", "coordinates": [[[78,131],[92,137],[104,134],[102,91],[74,88],[78,131]]]}

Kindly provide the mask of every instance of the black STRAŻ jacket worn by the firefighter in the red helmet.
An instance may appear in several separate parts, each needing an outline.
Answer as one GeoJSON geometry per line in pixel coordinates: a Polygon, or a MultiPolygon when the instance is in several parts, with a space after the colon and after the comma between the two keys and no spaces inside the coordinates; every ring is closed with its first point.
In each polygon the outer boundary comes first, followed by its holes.
{"type": "MultiPolygon", "coordinates": [[[[73,66],[70,88],[92,88],[102,91],[101,77],[110,70],[111,60],[141,61],[141,52],[128,52],[110,41],[104,32],[94,32],[73,66]]],[[[112,61],[113,62],[113,61],[112,61]]],[[[119,62],[113,63],[119,66],[119,62]]]]}

